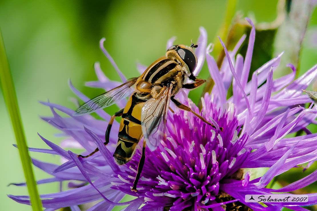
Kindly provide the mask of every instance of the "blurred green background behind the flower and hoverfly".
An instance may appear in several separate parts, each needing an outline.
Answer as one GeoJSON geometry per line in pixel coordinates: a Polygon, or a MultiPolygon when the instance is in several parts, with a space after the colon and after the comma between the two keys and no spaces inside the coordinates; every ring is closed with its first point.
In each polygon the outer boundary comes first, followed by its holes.
{"type": "MultiPolygon", "coordinates": [[[[0,27],[8,55],[18,103],[29,146],[47,148],[37,132],[59,143],[58,131],[39,115],[50,115],[49,108],[38,100],[58,103],[72,109],[68,88],[70,78],[76,88],[93,97],[102,90],[84,87],[84,82],[96,80],[93,64],[112,80],[120,80],[114,68],[99,49],[99,40],[106,37],[105,47],[127,78],[138,75],[136,62],[149,65],[165,54],[166,41],[176,35],[176,43],[196,40],[200,26],[213,42],[225,15],[227,1],[0,1],[0,27]]],[[[276,17],[277,0],[238,0],[236,11],[257,22],[270,22],[276,17]]],[[[317,33],[317,12],[309,22],[310,34],[317,33]]],[[[313,35],[312,35],[313,36],[313,35]]],[[[317,40],[315,40],[317,42],[317,40]]],[[[301,73],[317,63],[317,51],[306,36],[301,52],[301,73]]],[[[201,78],[207,78],[206,66],[201,78]]],[[[1,90],[0,90],[1,91],[1,90]]],[[[197,90],[191,97],[199,99],[197,90]]],[[[109,108],[113,112],[116,108],[109,108]]],[[[24,176],[11,122],[0,97],[1,169],[0,210],[31,210],[6,194],[26,195],[25,187],[7,187],[23,182],[24,176]]],[[[56,156],[31,153],[32,157],[60,162],[56,156]]],[[[34,168],[36,179],[48,175],[34,168]]],[[[300,174],[299,171],[298,174],[300,174]]],[[[58,183],[39,185],[40,193],[58,191],[58,183]]],[[[316,191],[317,189],[315,189],[316,191]]]]}

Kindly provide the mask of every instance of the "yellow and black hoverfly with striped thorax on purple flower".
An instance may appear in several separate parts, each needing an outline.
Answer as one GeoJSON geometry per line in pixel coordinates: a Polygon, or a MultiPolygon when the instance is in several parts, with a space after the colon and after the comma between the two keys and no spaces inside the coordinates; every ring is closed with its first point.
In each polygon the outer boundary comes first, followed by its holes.
{"type": "MultiPolygon", "coordinates": [[[[197,65],[193,49],[197,47],[198,45],[193,43],[190,46],[170,47],[165,56],[154,61],[140,77],[127,80],[124,84],[84,103],[76,110],[75,115],[89,114],[129,96],[125,108],[116,112],[108,122],[104,144],[109,143],[110,130],[115,117],[118,116],[121,116],[118,143],[113,153],[117,164],[123,165],[132,159],[139,140],[144,136],[142,155],[132,191],[137,191],[137,183],[145,162],[146,145],[154,151],[163,139],[170,101],[215,128],[201,115],[174,98],[181,88],[194,89],[206,81],[193,75],[197,65]],[[184,84],[186,77],[194,82],[184,84]]],[[[78,157],[87,158],[98,151],[99,149],[96,148],[89,155],[78,155],[78,157]]]]}

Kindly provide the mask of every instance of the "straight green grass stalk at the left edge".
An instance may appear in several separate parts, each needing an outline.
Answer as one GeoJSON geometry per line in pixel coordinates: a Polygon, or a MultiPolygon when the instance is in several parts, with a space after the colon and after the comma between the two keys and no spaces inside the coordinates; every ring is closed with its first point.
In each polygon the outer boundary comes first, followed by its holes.
{"type": "Polygon", "coordinates": [[[30,195],[30,201],[33,211],[42,210],[42,203],[37,191],[36,181],[31,166],[31,158],[29,156],[28,147],[20,118],[20,111],[16,99],[16,91],[14,89],[12,76],[9,69],[7,56],[4,49],[2,33],[0,30],[0,81],[3,92],[4,101],[9,111],[13,130],[16,136],[16,143],[19,149],[21,163],[27,188],[30,195]]]}

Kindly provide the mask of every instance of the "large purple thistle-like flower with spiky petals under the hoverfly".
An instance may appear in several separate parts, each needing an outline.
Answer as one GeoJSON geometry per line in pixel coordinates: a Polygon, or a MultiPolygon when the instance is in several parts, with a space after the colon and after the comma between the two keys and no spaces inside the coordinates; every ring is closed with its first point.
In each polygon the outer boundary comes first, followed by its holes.
{"type": "MultiPolygon", "coordinates": [[[[51,182],[68,182],[68,190],[41,195],[43,207],[47,211],[62,207],[79,210],[78,205],[95,202],[87,210],[112,210],[115,205],[128,205],[122,210],[280,210],[288,207],[293,210],[306,210],[299,206],[317,204],[317,193],[308,194],[305,203],[258,203],[245,202],[247,194],[271,194],[291,192],[301,189],[316,181],[317,171],[305,178],[280,189],[266,188],[277,175],[308,163],[308,168],[317,159],[317,135],[306,128],[316,123],[317,110],[312,100],[302,94],[317,75],[317,65],[300,78],[293,81],[295,68],[289,64],[292,73],[273,80],[275,67],[279,65],[282,53],[265,63],[252,74],[248,82],[252,51],[255,39],[255,28],[252,22],[249,46],[245,59],[238,54],[239,47],[246,36],[243,36],[233,51],[225,49],[226,57],[220,68],[210,56],[210,46],[206,47],[207,34],[200,28],[202,41],[196,50],[198,65],[194,71],[197,75],[206,59],[210,75],[215,82],[211,94],[202,98],[201,112],[190,99],[188,91],[182,90],[177,95],[179,101],[200,113],[216,127],[215,130],[197,119],[196,116],[170,104],[174,113],[168,113],[166,140],[155,151],[146,149],[145,166],[138,183],[138,192],[132,192],[131,186],[136,176],[141,147],[138,147],[133,159],[126,165],[115,164],[112,154],[115,149],[119,124],[113,123],[110,143],[104,147],[104,133],[110,115],[103,110],[97,114],[105,121],[96,120],[90,115],[72,116],[74,111],[51,102],[42,102],[50,107],[53,116],[42,117],[44,121],[61,130],[61,136],[67,138],[62,147],[83,148],[85,153],[92,152],[96,145],[100,152],[81,159],[71,151],[41,139],[51,149],[30,148],[30,151],[60,155],[63,164],[45,163],[36,159],[33,164],[52,175],[38,181],[38,184],[51,182]],[[293,82],[292,82],[293,81],[293,82]],[[227,92],[232,84],[233,95],[227,99],[227,92]],[[305,109],[303,104],[310,103],[305,109]],[[68,115],[61,117],[56,110],[68,115]],[[287,138],[286,135],[303,130],[306,134],[287,138]],[[250,179],[252,175],[245,168],[268,167],[262,176],[250,179]],[[87,184],[90,183],[90,184],[87,184]],[[136,198],[120,203],[124,195],[136,198]],[[101,200],[101,201],[100,201],[101,200]],[[98,202],[98,203],[97,203],[98,202]]],[[[100,47],[118,71],[122,81],[125,77],[103,47],[100,47]]],[[[174,38],[168,41],[170,47],[174,38]]],[[[223,42],[220,40],[223,45],[223,42]]],[[[224,47],[224,45],[223,45],[224,47]]],[[[138,65],[140,72],[145,67],[138,65]]],[[[91,87],[110,90],[120,83],[109,81],[95,64],[98,77],[96,82],[88,82],[91,87]]],[[[83,101],[88,98],[70,88],[83,101]]],[[[118,107],[125,102],[117,103],[118,107]]],[[[84,153],[84,154],[85,154],[84,153]]],[[[16,185],[25,185],[19,183],[16,185]]],[[[19,203],[29,204],[28,196],[9,195],[19,203]]]]}

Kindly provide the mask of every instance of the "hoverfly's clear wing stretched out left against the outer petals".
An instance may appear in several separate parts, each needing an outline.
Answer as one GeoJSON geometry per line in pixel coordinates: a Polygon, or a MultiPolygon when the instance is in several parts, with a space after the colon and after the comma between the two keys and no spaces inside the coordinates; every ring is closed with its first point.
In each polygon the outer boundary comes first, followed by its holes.
{"type": "Polygon", "coordinates": [[[131,87],[135,84],[137,79],[138,78],[131,78],[124,84],[121,84],[120,86],[115,87],[112,90],[109,90],[89,100],[88,102],[81,105],[78,109],[76,109],[74,116],[90,114],[100,109],[104,109],[131,95],[133,92],[133,89],[131,87]]]}

